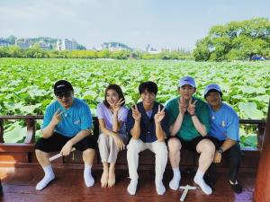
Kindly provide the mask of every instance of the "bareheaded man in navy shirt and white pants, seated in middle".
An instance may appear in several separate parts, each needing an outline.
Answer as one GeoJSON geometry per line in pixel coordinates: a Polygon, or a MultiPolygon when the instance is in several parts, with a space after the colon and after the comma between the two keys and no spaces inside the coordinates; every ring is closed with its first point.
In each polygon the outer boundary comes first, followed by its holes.
{"type": "Polygon", "coordinates": [[[165,107],[156,100],[157,84],[144,82],[139,84],[141,101],[131,107],[127,119],[127,129],[131,136],[127,146],[127,159],[130,173],[128,192],[135,195],[138,185],[139,153],[149,149],[156,154],[155,183],[158,195],[166,191],[163,185],[163,173],[167,162],[166,136],[169,135],[165,107]]]}

